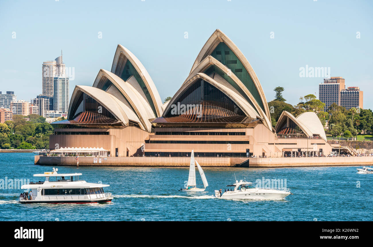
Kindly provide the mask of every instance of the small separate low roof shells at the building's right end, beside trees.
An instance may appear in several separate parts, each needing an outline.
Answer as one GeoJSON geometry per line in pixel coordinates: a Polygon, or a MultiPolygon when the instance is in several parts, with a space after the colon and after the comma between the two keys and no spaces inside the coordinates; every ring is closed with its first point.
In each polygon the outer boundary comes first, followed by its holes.
{"type": "Polygon", "coordinates": [[[281,131],[285,130],[286,132],[284,132],[284,134],[287,134],[288,131],[292,131],[292,129],[295,128],[294,126],[291,126],[290,121],[296,125],[295,127],[298,126],[305,135],[319,135],[326,140],[324,128],[316,113],[304,112],[295,118],[291,113],[283,111],[277,121],[275,131],[280,133],[281,131]]]}

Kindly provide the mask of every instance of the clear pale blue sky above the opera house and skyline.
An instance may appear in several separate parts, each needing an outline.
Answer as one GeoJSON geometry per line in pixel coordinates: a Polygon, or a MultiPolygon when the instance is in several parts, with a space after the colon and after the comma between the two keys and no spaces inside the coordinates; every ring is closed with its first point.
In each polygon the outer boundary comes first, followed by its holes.
{"type": "Polygon", "coordinates": [[[66,66],[75,68],[71,94],[75,85],[92,85],[101,68],[110,71],[122,44],[140,59],[163,100],[178,90],[219,28],[247,57],[267,101],[277,86],[293,105],[306,94],[318,97],[323,78],[299,76],[308,65],[330,67],[331,76],[360,87],[364,108],[373,109],[372,12],[369,0],[2,0],[0,91],[24,100],[40,94],[41,65],[62,49],[66,66]]]}

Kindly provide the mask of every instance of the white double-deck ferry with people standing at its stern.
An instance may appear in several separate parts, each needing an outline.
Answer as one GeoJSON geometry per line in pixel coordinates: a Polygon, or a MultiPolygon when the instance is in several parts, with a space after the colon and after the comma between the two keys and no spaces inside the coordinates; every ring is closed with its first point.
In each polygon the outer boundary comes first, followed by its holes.
{"type": "Polygon", "coordinates": [[[45,177],[45,181],[30,182],[22,185],[22,190],[31,191],[32,194],[22,193],[19,203],[108,203],[113,200],[112,193],[105,193],[107,184],[87,183],[79,180],[82,173],[57,173],[34,174],[34,177],[45,177]]]}

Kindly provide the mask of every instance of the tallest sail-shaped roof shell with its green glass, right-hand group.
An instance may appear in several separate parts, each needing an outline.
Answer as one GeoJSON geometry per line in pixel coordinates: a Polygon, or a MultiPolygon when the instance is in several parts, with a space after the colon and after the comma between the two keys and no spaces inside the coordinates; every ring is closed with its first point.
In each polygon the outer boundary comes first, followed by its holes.
{"type": "Polygon", "coordinates": [[[216,29],[203,46],[192,66],[191,72],[209,55],[216,58],[216,60],[228,67],[237,76],[248,91],[250,91],[250,94],[254,97],[267,118],[271,119],[266,96],[253,68],[238,47],[219,29],[216,29]]]}

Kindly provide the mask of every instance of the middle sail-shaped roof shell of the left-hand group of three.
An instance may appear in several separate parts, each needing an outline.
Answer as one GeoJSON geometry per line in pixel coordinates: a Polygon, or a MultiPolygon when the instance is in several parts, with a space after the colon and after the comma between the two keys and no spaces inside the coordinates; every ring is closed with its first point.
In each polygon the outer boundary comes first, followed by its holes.
{"type": "Polygon", "coordinates": [[[93,87],[102,89],[120,99],[126,106],[130,107],[140,119],[147,131],[151,131],[149,119],[155,118],[147,100],[128,81],[123,81],[119,76],[105,69],[100,69],[93,83],[93,87]]]}

